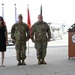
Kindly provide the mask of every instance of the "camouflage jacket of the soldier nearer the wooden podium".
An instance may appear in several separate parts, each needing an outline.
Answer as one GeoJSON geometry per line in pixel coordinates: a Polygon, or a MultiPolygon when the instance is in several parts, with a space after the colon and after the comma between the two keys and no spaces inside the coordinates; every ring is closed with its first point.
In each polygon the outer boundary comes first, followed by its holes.
{"type": "Polygon", "coordinates": [[[36,22],[32,26],[32,40],[50,40],[50,27],[46,22],[36,22]],[[35,36],[35,38],[34,38],[35,36]]]}

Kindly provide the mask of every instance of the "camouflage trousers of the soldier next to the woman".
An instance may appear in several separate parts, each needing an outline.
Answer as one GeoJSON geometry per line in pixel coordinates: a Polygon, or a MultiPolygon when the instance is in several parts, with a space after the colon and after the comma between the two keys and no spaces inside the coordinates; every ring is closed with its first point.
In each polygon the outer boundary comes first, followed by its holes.
{"type": "Polygon", "coordinates": [[[26,58],[26,42],[16,41],[15,45],[17,60],[24,60],[26,58]]]}

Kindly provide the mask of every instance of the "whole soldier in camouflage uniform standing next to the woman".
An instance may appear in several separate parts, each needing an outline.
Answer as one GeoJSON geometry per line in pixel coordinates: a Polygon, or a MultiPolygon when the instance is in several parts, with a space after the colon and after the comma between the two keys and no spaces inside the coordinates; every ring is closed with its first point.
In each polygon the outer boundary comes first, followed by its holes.
{"type": "Polygon", "coordinates": [[[28,25],[25,24],[22,14],[18,16],[19,22],[15,23],[11,29],[11,38],[15,42],[18,65],[26,65],[26,41],[30,38],[28,25]],[[21,63],[22,60],[22,63],[21,63]]]}

